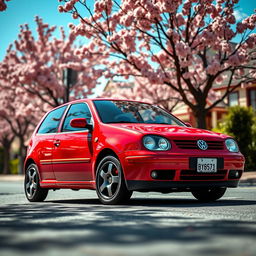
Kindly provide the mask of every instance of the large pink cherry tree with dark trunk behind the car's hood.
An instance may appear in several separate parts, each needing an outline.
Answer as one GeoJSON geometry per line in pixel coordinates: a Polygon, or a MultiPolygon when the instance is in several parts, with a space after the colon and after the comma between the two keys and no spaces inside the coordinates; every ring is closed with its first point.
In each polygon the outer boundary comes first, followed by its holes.
{"type": "Polygon", "coordinates": [[[105,57],[106,77],[170,87],[198,127],[206,128],[207,113],[229,93],[255,81],[256,14],[236,20],[239,0],[98,0],[94,9],[87,1],[60,2],[60,12],[80,20],[70,25],[73,33],[90,40],[82,49],[105,57]],[[226,91],[209,105],[218,85],[226,91]]]}

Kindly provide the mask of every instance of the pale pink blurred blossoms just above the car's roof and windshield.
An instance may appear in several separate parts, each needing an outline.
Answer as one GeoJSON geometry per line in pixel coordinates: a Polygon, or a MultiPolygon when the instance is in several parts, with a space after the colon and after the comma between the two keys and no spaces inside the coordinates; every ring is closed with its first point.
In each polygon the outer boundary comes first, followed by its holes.
{"type": "Polygon", "coordinates": [[[147,78],[136,77],[132,82],[112,81],[100,95],[103,98],[130,99],[157,104],[172,112],[181,101],[177,93],[164,84],[151,84],[147,78]]]}

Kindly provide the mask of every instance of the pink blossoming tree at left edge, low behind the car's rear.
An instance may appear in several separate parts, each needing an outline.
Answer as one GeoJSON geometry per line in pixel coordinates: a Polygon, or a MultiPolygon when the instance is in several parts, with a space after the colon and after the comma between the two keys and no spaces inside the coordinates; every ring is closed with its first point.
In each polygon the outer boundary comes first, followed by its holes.
{"type": "MultiPolygon", "coordinates": [[[[49,106],[41,104],[35,95],[27,93],[23,88],[3,81],[0,83],[0,90],[0,124],[3,128],[0,134],[1,144],[7,155],[14,137],[18,138],[19,173],[22,173],[26,141],[49,106]]],[[[5,161],[8,165],[9,160],[5,161]]]]}

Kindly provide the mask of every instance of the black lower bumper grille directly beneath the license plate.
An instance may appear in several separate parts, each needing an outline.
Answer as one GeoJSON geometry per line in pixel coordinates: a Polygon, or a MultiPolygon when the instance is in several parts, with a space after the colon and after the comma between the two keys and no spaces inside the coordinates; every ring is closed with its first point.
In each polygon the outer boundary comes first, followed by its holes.
{"type": "Polygon", "coordinates": [[[227,170],[218,170],[216,173],[198,173],[192,170],[181,170],[180,180],[222,180],[227,170]]]}

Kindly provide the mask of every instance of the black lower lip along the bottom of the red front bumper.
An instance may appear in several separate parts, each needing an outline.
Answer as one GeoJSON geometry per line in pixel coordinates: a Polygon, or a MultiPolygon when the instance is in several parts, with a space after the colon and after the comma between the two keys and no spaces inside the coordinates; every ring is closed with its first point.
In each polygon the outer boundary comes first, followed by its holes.
{"type": "Polygon", "coordinates": [[[128,190],[133,191],[188,191],[195,188],[237,187],[239,180],[228,181],[144,181],[127,180],[128,190]]]}

